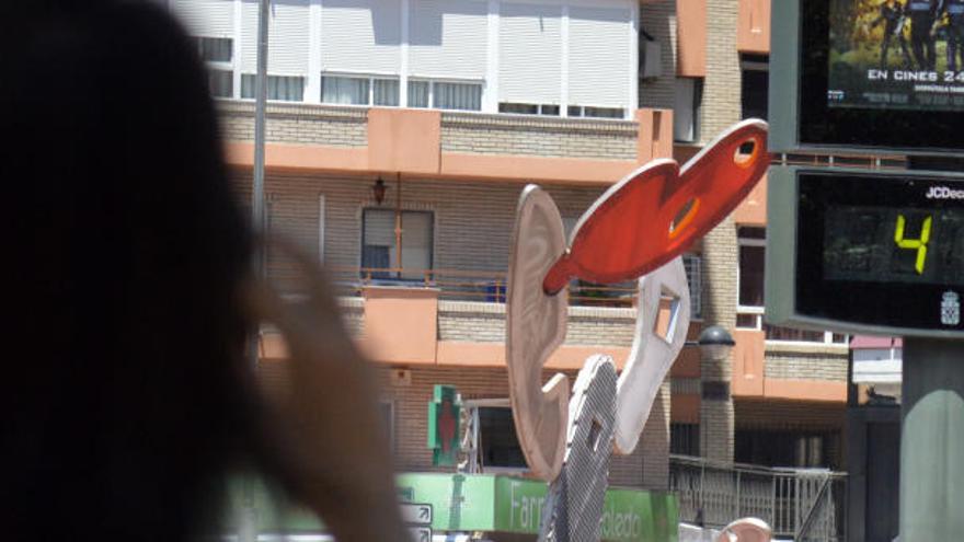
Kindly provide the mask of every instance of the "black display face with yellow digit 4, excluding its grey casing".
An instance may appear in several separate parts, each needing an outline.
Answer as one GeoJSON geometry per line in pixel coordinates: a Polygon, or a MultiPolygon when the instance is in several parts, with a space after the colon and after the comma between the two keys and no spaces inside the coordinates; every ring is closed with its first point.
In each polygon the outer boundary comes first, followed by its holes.
{"type": "Polygon", "coordinates": [[[964,182],[806,172],[797,183],[799,312],[964,330],[964,182]]]}

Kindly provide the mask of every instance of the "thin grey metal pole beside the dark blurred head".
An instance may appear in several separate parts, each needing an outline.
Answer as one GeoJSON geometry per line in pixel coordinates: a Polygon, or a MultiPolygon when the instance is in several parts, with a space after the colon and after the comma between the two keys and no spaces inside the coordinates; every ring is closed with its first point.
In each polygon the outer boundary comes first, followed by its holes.
{"type": "MultiPolygon", "coordinates": [[[[254,79],[254,182],[251,187],[251,227],[256,235],[264,233],[264,108],[267,101],[267,24],[271,0],[259,0],[257,9],[257,73],[254,79]]],[[[254,243],[252,262],[255,280],[266,276],[264,242],[254,243]]],[[[254,322],[249,339],[251,370],[257,371],[261,323],[254,322]]],[[[241,511],[238,538],[241,542],[257,540],[257,510],[254,503],[253,480],[250,474],[243,480],[243,510],[241,511]]]]}

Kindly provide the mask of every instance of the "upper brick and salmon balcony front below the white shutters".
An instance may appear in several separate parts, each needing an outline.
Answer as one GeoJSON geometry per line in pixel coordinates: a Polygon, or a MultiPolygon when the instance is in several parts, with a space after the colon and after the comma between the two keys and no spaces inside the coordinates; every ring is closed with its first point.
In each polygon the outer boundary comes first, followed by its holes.
{"type": "MultiPolygon", "coordinates": [[[[229,164],[253,163],[254,104],[219,100],[229,164]]],[[[632,120],[271,103],[266,166],[608,185],[673,153],[669,111],[632,120]]]]}

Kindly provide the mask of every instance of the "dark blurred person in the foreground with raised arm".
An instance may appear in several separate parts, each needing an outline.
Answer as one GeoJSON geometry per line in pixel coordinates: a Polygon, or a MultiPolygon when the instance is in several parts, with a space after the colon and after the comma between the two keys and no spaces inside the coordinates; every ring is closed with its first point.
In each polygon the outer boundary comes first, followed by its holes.
{"type": "Polygon", "coordinates": [[[251,280],[196,48],[149,3],[0,3],[4,538],[218,537],[248,469],[338,540],[404,540],[329,292],[296,313],[251,280]],[[244,357],[262,321],[291,353],[272,402],[244,357]]]}

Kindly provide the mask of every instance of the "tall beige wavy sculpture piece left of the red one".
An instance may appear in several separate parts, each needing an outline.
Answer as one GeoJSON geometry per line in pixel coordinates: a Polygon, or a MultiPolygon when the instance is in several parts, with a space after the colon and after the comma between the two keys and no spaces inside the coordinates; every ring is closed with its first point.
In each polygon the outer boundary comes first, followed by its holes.
{"type": "Polygon", "coordinates": [[[505,358],[513,419],[529,469],[551,481],[565,451],[569,380],[556,373],[539,383],[542,366],[565,339],[569,295],[542,290],[542,278],[565,252],[565,235],[555,203],[536,185],[519,198],[510,246],[505,358]]]}

